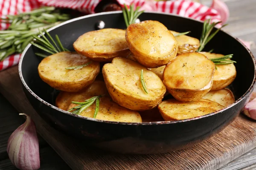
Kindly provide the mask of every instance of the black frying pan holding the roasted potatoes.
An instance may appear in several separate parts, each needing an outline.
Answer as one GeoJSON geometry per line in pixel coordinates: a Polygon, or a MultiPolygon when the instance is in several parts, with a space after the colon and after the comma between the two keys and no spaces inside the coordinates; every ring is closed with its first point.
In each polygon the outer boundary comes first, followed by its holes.
{"type": "MultiPolygon", "coordinates": [[[[51,35],[58,34],[61,42],[73,51],[73,42],[87,31],[96,29],[102,20],[105,28],[125,28],[120,11],[87,15],[51,28],[51,35]]],[[[163,13],[143,13],[140,20],[158,20],[167,28],[200,38],[202,26],[196,20],[163,13]]],[[[182,121],[122,123],[81,117],[56,108],[57,91],[38,76],[40,57],[38,50],[28,45],[19,63],[20,79],[24,92],[35,110],[52,126],[105,150],[119,153],[163,153],[189,147],[220,132],[229,125],[247,104],[255,86],[255,59],[252,53],[236,38],[220,31],[209,42],[205,51],[234,54],[237,77],[230,86],[236,102],[221,111],[182,121]]],[[[54,136],[52,136],[54,137],[54,136]]]]}

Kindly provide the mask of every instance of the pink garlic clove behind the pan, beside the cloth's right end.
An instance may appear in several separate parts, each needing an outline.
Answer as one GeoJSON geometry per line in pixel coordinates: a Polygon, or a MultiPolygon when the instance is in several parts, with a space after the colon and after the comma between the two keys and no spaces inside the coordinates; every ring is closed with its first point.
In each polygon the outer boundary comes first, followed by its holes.
{"type": "Polygon", "coordinates": [[[215,9],[218,12],[218,14],[220,14],[222,21],[221,24],[227,22],[230,16],[230,12],[226,3],[224,3],[222,0],[212,0],[212,5],[210,6],[210,8],[215,9]]]}

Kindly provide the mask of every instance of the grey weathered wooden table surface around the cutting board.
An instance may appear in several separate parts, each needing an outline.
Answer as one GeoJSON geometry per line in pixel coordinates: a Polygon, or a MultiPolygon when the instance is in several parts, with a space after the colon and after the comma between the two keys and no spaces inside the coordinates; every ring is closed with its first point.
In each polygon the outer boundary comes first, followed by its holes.
{"type": "MultiPolygon", "coordinates": [[[[256,0],[224,0],[230,9],[229,25],[224,28],[242,40],[251,41],[251,51],[256,55],[256,0]]],[[[209,0],[201,0],[210,5],[209,0]]],[[[242,56],[241,56],[242,57],[242,56]]],[[[0,170],[15,170],[6,153],[7,140],[25,121],[13,106],[0,94],[0,170]]],[[[40,170],[70,170],[70,167],[39,136],[40,170]]],[[[219,170],[256,170],[256,149],[221,167],[219,170]]]]}

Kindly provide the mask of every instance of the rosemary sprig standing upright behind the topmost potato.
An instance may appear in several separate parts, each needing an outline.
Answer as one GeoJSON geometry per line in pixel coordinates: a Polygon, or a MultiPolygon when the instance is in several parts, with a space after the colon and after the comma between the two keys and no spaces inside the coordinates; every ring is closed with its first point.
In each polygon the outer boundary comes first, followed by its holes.
{"type": "Polygon", "coordinates": [[[130,10],[127,8],[126,5],[125,5],[124,8],[122,8],[122,12],[123,12],[123,16],[124,16],[124,19],[125,19],[126,27],[135,23],[135,21],[140,16],[140,14],[142,14],[144,12],[144,11],[139,11],[139,9],[140,9],[140,7],[137,7],[134,11],[134,4],[130,5],[130,10]]]}

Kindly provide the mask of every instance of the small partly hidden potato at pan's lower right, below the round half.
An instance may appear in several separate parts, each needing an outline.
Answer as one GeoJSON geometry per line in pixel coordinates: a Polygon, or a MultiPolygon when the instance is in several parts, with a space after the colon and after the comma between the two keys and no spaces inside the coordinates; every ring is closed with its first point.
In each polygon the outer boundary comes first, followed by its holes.
{"type": "Polygon", "coordinates": [[[221,90],[216,90],[216,91],[209,91],[203,99],[208,99],[213,102],[217,102],[218,104],[221,104],[225,107],[228,105],[231,105],[233,102],[235,102],[235,97],[228,88],[224,88],[221,90]]]}

